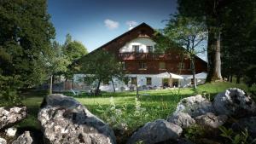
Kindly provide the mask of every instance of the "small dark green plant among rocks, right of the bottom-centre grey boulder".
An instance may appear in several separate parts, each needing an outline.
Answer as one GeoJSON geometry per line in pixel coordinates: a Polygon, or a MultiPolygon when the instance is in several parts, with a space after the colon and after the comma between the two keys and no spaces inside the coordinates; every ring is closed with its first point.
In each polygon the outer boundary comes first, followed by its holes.
{"type": "Polygon", "coordinates": [[[196,139],[202,137],[205,134],[205,129],[201,125],[194,124],[189,128],[184,129],[183,134],[187,139],[196,141],[196,139]]]}

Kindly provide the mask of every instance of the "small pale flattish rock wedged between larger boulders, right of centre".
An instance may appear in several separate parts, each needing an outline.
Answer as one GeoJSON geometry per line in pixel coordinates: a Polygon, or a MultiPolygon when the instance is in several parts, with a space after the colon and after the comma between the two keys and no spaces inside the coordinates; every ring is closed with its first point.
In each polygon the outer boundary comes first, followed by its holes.
{"type": "Polygon", "coordinates": [[[190,125],[195,124],[195,120],[189,116],[188,113],[178,112],[176,115],[172,115],[167,118],[167,121],[173,124],[177,124],[182,128],[188,128],[190,125]]]}

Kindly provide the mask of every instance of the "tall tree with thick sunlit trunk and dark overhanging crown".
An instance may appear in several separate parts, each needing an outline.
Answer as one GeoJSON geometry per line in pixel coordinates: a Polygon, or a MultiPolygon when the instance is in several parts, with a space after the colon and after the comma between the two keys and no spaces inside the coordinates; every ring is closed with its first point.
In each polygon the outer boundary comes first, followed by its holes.
{"type": "Polygon", "coordinates": [[[201,20],[206,23],[208,31],[207,42],[207,81],[221,80],[220,36],[222,9],[230,4],[229,0],[178,0],[179,14],[201,20]]]}

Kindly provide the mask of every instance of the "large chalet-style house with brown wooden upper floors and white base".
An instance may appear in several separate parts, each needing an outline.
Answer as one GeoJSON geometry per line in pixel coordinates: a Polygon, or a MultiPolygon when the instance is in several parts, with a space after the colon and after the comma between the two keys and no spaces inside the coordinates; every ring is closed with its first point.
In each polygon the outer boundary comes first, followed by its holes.
{"type": "MultiPolygon", "coordinates": [[[[154,42],[154,29],[143,23],[119,37],[102,45],[92,51],[95,53],[99,49],[107,50],[116,55],[122,63],[123,70],[128,73],[128,84],[114,79],[115,89],[131,90],[136,89],[161,89],[166,87],[188,87],[193,84],[190,60],[183,57],[176,50],[166,54],[154,53],[156,43],[154,42]]],[[[90,55],[90,54],[88,54],[90,55]]],[[[197,83],[204,83],[207,72],[207,62],[201,58],[195,58],[195,72],[197,83]]],[[[83,74],[76,74],[74,77],[75,89],[86,89],[79,79],[83,74]]],[[[101,84],[101,90],[113,91],[113,86],[101,84]]]]}

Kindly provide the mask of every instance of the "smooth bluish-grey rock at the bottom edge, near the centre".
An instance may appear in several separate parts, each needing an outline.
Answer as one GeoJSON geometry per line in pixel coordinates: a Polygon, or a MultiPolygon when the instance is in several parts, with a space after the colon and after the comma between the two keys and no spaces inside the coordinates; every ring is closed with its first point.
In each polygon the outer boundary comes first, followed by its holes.
{"type": "Polygon", "coordinates": [[[141,141],[147,144],[154,144],[161,141],[177,140],[182,131],[182,128],[176,124],[169,123],[164,119],[157,119],[137,130],[131,135],[127,144],[135,144],[141,141]]]}

